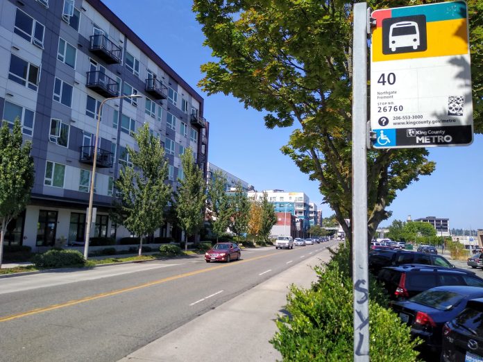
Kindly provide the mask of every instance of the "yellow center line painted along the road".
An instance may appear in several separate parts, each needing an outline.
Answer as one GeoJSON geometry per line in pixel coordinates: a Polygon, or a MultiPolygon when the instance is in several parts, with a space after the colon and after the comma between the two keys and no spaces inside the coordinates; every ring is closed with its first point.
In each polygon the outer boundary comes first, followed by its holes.
{"type": "Polygon", "coordinates": [[[272,255],[280,255],[280,253],[273,252],[273,253],[268,254],[268,255],[262,255],[260,257],[254,257],[252,259],[243,259],[243,260],[237,261],[237,263],[234,263],[234,264],[223,264],[223,265],[219,265],[219,266],[212,266],[212,267],[206,268],[206,269],[195,270],[195,271],[192,271],[192,272],[189,272],[189,273],[183,273],[183,274],[179,274],[179,275],[173,275],[172,277],[154,280],[153,282],[143,283],[143,284],[139,284],[139,285],[135,285],[135,286],[129,286],[128,288],[121,288],[121,289],[117,289],[115,291],[110,291],[110,292],[106,292],[106,293],[100,293],[100,294],[92,295],[90,297],[80,298],[80,299],[76,299],[76,300],[70,300],[69,302],[65,302],[65,303],[52,304],[49,307],[36,308],[36,309],[32,309],[30,311],[12,314],[11,316],[0,317],[0,322],[7,322],[8,320],[14,320],[14,319],[18,319],[18,318],[24,318],[24,317],[27,317],[27,316],[33,316],[34,314],[44,313],[46,311],[53,311],[55,309],[71,307],[71,306],[76,305],[76,304],[90,302],[91,300],[110,297],[112,295],[118,295],[118,294],[121,294],[121,293],[130,292],[130,291],[135,291],[137,289],[146,288],[148,286],[154,286],[154,285],[162,284],[162,283],[165,283],[165,282],[170,282],[171,280],[176,280],[176,279],[180,279],[180,278],[184,278],[184,277],[191,277],[192,275],[206,273],[208,271],[217,270],[219,268],[226,268],[227,266],[236,266],[236,265],[239,265],[239,264],[242,264],[242,263],[247,263],[248,261],[254,261],[254,260],[257,260],[257,259],[264,259],[266,257],[271,257],[272,255]]]}

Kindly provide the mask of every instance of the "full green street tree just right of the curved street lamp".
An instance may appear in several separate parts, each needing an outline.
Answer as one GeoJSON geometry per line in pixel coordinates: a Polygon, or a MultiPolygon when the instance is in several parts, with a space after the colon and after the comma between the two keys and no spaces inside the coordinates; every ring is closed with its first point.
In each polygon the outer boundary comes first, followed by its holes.
{"type": "Polygon", "coordinates": [[[134,135],[139,146],[136,152],[127,147],[133,166],[119,171],[115,186],[119,200],[115,200],[115,219],[127,230],[139,236],[139,255],[142,253],[144,236],[153,234],[164,223],[164,212],[171,200],[168,178],[168,162],[158,138],[149,132],[144,123],[134,135]]]}

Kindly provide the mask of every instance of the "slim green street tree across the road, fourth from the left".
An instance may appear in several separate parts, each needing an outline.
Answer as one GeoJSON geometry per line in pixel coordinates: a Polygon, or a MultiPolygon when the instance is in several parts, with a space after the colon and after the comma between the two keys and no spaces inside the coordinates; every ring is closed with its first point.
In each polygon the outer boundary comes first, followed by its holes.
{"type": "Polygon", "coordinates": [[[226,175],[221,170],[212,173],[208,184],[208,209],[212,233],[221,236],[230,223],[230,202],[226,194],[226,175]]]}

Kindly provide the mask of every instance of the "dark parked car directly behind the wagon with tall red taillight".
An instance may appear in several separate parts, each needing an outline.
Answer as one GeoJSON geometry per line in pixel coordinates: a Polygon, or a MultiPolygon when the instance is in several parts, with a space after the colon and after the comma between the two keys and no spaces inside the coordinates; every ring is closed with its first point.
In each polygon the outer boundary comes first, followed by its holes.
{"type": "Polygon", "coordinates": [[[425,252],[409,252],[405,250],[372,250],[369,252],[369,270],[378,275],[384,266],[398,266],[402,264],[425,264],[455,268],[447,259],[440,255],[425,252]]]}

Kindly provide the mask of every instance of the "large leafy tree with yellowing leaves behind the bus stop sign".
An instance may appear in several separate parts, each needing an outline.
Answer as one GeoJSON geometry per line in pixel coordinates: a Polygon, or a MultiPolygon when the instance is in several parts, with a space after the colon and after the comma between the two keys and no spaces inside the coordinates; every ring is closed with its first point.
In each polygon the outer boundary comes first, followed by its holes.
{"type": "MultiPolygon", "coordinates": [[[[201,66],[207,94],[232,94],[267,112],[267,128],[297,124],[282,152],[310,180],[351,241],[352,6],[356,1],[194,0],[214,60],[201,66]]],[[[371,0],[378,8],[426,3],[371,0]]],[[[481,1],[468,1],[471,42],[481,60],[481,1]],[[478,43],[477,40],[480,39],[478,43]]],[[[475,130],[482,131],[481,62],[473,64],[475,130]],[[477,80],[475,82],[475,80],[477,80]]],[[[368,150],[368,240],[391,212],[397,191],[435,164],[425,148],[368,150]]]]}

